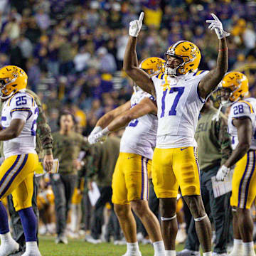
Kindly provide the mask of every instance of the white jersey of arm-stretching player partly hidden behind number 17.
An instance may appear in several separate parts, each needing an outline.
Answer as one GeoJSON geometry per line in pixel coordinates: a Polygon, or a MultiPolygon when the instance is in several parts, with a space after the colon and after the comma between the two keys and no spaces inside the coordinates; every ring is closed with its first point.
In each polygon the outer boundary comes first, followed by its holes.
{"type": "MultiPolygon", "coordinates": [[[[149,93],[138,87],[134,89],[131,97],[131,107],[139,104],[145,97],[154,100],[149,93]]],[[[122,135],[120,152],[134,153],[152,159],[156,146],[157,117],[154,114],[145,114],[143,117],[133,119],[125,128],[122,135]]]]}

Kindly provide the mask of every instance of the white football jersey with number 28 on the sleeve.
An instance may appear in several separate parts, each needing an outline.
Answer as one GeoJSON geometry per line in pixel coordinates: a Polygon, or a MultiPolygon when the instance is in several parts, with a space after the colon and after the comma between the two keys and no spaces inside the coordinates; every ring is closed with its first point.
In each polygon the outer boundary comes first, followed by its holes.
{"type": "Polygon", "coordinates": [[[233,119],[249,117],[252,121],[252,144],[250,149],[256,150],[256,99],[246,98],[235,102],[228,115],[228,132],[232,137],[232,149],[238,146],[238,129],[233,125],[233,119]]]}

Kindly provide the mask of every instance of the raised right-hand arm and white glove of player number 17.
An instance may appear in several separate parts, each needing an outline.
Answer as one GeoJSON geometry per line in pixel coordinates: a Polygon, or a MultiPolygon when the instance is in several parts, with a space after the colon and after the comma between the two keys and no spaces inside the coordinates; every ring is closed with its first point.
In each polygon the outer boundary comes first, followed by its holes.
{"type": "Polygon", "coordinates": [[[228,71],[228,46],[225,39],[225,36],[228,36],[228,33],[223,30],[222,23],[217,16],[214,14],[212,14],[212,16],[214,20],[208,20],[206,22],[210,23],[210,30],[214,29],[219,38],[219,53],[216,67],[213,70],[210,70],[210,73],[205,75],[198,85],[199,94],[203,99],[206,99],[210,92],[215,90],[215,87],[217,87],[218,83],[228,71]]]}

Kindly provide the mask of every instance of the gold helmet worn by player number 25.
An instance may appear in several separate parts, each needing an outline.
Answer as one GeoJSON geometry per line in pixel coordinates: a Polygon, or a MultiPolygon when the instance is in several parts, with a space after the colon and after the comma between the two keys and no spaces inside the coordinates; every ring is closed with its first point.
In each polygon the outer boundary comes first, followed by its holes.
{"type": "Polygon", "coordinates": [[[28,75],[21,68],[7,65],[0,69],[0,98],[8,99],[19,90],[25,89],[28,75]]]}

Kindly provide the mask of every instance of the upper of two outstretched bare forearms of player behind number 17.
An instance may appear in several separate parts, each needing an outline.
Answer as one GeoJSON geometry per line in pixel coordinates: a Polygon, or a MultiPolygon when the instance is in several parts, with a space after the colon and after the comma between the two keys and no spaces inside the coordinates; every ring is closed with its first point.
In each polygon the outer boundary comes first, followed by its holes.
{"type": "Polygon", "coordinates": [[[101,127],[102,129],[104,129],[105,127],[107,127],[108,124],[110,124],[110,122],[112,122],[112,120],[114,120],[116,117],[118,117],[119,114],[122,114],[125,111],[129,110],[130,107],[131,107],[131,102],[129,100],[126,103],[124,103],[123,105],[115,108],[114,110],[107,112],[102,117],[100,117],[100,119],[98,120],[98,122],[96,124],[96,127],[101,127]]]}

